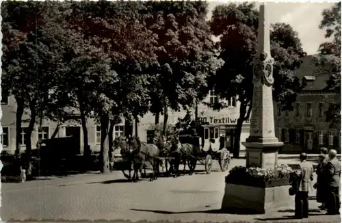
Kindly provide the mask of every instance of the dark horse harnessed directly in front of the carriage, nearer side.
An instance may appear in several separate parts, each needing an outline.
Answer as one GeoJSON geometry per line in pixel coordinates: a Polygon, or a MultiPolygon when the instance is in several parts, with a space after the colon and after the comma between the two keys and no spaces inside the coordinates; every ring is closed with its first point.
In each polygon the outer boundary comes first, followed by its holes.
{"type": "MultiPolygon", "coordinates": [[[[183,161],[184,164],[184,169],[183,172],[185,172],[187,163],[189,163],[189,175],[192,175],[194,173],[194,170],[196,168],[196,163],[197,163],[197,151],[195,150],[195,146],[189,143],[184,143],[181,144],[181,142],[179,141],[179,137],[174,134],[172,136],[172,140],[171,140],[171,144],[174,148],[178,148],[179,149],[179,161],[176,162],[176,165],[180,164],[180,161],[183,161]]],[[[178,171],[179,167],[177,168],[178,171]]]]}

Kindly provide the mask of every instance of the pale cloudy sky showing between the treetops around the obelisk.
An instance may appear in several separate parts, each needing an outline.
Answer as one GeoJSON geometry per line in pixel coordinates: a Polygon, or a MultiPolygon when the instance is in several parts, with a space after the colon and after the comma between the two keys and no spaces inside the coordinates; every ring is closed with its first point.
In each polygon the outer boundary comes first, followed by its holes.
{"type": "MultiPolygon", "coordinates": [[[[224,2],[209,1],[209,14],[216,5],[226,4],[224,2]]],[[[259,8],[260,3],[256,3],[259,8]]],[[[321,22],[321,12],[326,8],[331,8],[334,2],[330,3],[285,3],[285,2],[269,2],[267,10],[269,13],[270,23],[287,23],[298,32],[298,36],[302,42],[302,47],[308,55],[317,53],[319,44],[326,42],[324,38],[325,31],[319,29],[321,22]]]]}

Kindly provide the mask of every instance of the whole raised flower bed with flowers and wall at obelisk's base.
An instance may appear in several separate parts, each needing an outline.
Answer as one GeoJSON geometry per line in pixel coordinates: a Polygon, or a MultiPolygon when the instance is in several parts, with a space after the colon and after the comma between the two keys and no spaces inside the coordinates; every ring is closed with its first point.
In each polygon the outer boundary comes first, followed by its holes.
{"type": "Polygon", "coordinates": [[[274,169],[246,168],[236,166],[226,176],[222,211],[266,213],[279,207],[293,205],[289,195],[289,179],[294,176],[287,165],[274,169]]]}

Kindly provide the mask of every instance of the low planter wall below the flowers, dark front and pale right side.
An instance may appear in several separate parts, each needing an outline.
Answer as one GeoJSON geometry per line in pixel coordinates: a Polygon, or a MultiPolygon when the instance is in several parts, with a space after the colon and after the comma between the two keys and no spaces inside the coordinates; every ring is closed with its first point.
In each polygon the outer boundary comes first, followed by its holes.
{"type": "MultiPolygon", "coordinates": [[[[273,185],[264,183],[265,187],[226,183],[222,211],[267,213],[280,207],[293,207],[294,196],[289,196],[290,185],[283,180],[282,183],[273,182],[273,185]]],[[[286,180],[288,182],[288,179],[286,180]]]]}

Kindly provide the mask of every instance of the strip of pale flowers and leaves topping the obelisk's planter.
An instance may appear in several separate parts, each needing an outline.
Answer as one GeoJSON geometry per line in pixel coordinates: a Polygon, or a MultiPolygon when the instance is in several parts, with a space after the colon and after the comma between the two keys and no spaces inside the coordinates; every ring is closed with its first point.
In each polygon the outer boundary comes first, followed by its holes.
{"type": "Polygon", "coordinates": [[[293,170],[284,164],[267,169],[235,166],[229,171],[227,178],[233,181],[272,181],[276,179],[289,179],[291,172],[293,170]]]}

